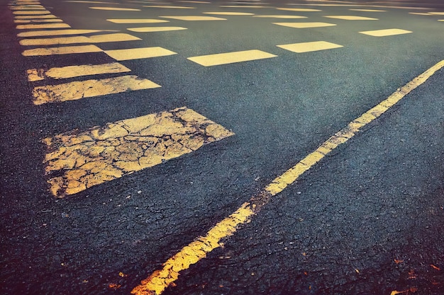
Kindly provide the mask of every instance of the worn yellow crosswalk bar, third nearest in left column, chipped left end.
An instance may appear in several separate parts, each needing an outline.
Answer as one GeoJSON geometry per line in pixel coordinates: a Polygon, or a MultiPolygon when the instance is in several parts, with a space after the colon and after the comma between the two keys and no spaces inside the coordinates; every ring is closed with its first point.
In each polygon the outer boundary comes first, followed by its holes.
{"type": "Polygon", "coordinates": [[[63,66],[52,69],[28,69],[28,81],[40,81],[44,79],[68,79],[80,76],[116,74],[131,71],[123,64],[112,62],[110,64],[84,64],[81,66],[63,66]]]}

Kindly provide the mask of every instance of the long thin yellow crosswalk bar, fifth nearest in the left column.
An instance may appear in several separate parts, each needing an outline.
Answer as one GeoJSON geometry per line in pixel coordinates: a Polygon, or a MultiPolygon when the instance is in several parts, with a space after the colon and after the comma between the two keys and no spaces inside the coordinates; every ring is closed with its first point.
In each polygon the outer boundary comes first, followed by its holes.
{"type": "Polygon", "coordinates": [[[32,46],[32,45],[61,45],[61,44],[74,44],[74,43],[103,43],[103,42],[122,42],[122,41],[134,41],[141,40],[139,37],[125,33],[94,35],[90,37],[78,36],[78,37],[56,37],[45,39],[24,39],[20,40],[20,45],[32,46]]]}

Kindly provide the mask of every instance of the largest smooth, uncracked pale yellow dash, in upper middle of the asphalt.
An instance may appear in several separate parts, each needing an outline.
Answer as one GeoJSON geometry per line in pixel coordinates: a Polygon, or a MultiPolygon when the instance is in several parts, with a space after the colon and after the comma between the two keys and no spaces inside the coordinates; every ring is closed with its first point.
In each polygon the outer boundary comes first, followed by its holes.
{"type": "Polygon", "coordinates": [[[202,55],[200,57],[189,57],[188,59],[202,66],[218,66],[221,64],[233,64],[235,62],[248,62],[257,59],[267,59],[277,55],[260,50],[245,50],[218,54],[202,55]]]}

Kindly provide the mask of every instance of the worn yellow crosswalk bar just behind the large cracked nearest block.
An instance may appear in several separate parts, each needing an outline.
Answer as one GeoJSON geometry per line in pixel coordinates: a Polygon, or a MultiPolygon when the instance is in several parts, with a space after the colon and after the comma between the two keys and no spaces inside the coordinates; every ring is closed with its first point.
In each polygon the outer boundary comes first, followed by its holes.
{"type": "Polygon", "coordinates": [[[157,88],[160,85],[138,76],[120,76],[116,78],[74,81],[58,85],[38,86],[33,89],[33,103],[58,103],[113,93],[157,88]]]}

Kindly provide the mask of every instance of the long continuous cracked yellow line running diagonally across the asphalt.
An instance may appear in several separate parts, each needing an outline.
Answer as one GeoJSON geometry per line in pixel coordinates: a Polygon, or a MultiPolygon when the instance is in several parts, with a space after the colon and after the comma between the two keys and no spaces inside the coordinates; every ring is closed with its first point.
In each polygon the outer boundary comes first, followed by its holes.
{"type": "Polygon", "coordinates": [[[262,192],[251,197],[248,202],[242,204],[233,214],[220,221],[216,226],[213,226],[213,228],[206,233],[206,236],[199,236],[192,243],[182,248],[182,250],[172,256],[172,258],[163,263],[162,269],[156,270],[147,279],[140,282],[140,284],[131,291],[131,294],[162,294],[167,287],[174,284],[174,281],[177,280],[182,270],[186,270],[190,265],[205,258],[212,250],[221,247],[221,239],[232,236],[239,226],[250,221],[252,216],[260,212],[260,209],[270,202],[272,196],[279,194],[279,192],[282,192],[288,185],[294,183],[306,170],[309,170],[318,163],[318,161],[321,161],[322,158],[340,144],[354,137],[357,132],[361,131],[362,127],[382,115],[411,91],[414,91],[414,89],[430,78],[435,71],[443,68],[443,66],[444,60],[438,62],[438,64],[435,64],[423,72],[423,74],[417,76],[411,82],[392,93],[386,100],[383,100],[374,108],[371,108],[350,122],[350,124],[321,144],[318,149],[303,158],[299,163],[296,163],[292,168],[289,168],[289,170],[285,171],[282,175],[272,180],[272,183],[267,185],[262,192]]]}

